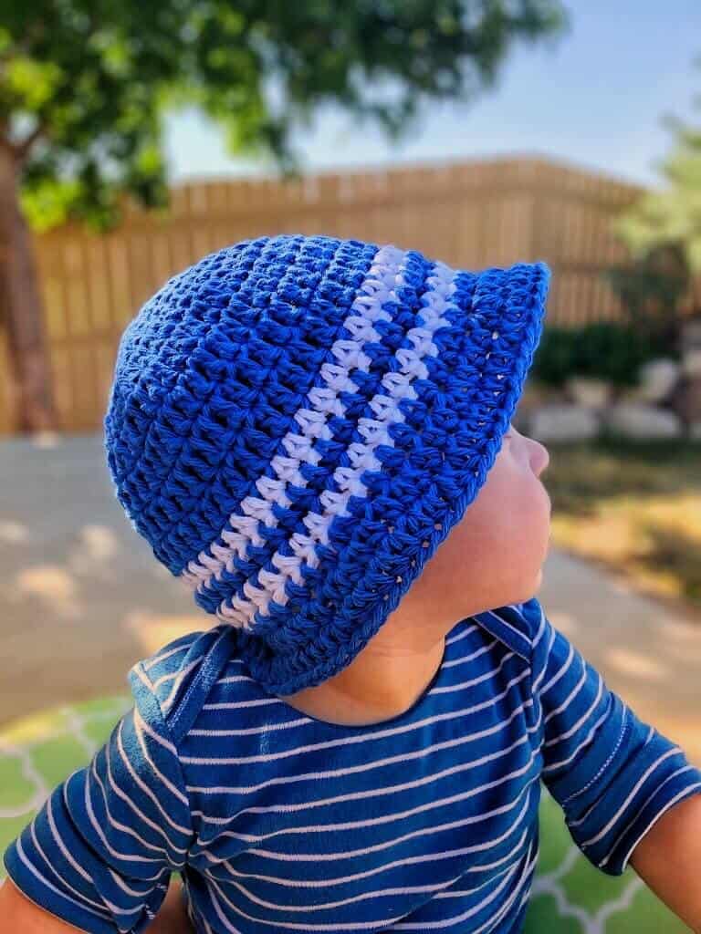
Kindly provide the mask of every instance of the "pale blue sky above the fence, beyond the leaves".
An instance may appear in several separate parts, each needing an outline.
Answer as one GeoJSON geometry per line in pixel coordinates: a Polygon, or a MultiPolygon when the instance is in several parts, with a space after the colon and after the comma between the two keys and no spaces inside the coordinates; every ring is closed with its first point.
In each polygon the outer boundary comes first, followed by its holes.
{"type": "MultiPolygon", "coordinates": [[[[392,145],[338,106],[295,130],[306,172],[444,163],[502,155],[561,163],[658,187],[673,136],[661,117],[701,125],[701,0],[565,0],[570,28],[556,43],[515,44],[494,88],[470,103],[424,101],[410,137],[392,145]]],[[[269,166],[227,155],[222,133],[188,109],[165,120],[174,182],[260,177],[269,166]]]]}

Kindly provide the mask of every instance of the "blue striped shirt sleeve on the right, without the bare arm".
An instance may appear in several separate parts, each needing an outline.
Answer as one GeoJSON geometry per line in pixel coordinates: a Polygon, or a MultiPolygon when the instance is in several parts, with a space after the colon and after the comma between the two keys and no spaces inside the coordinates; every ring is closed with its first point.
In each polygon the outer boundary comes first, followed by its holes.
{"type": "Polygon", "coordinates": [[[543,782],[581,852],[608,875],[621,875],[665,811],[701,792],[701,772],[608,689],[536,600],[522,612],[531,616],[534,633],[543,782]]]}

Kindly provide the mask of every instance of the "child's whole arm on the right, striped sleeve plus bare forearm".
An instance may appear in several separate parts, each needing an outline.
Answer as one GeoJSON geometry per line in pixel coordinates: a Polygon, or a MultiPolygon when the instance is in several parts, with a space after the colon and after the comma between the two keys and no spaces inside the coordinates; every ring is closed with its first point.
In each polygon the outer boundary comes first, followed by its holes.
{"type": "Polygon", "coordinates": [[[541,777],[573,840],[609,875],[632,862],[673,911],[701,930],[701,771],[608,689],[538,601],[519,612],[532,640],[541,777]]]}

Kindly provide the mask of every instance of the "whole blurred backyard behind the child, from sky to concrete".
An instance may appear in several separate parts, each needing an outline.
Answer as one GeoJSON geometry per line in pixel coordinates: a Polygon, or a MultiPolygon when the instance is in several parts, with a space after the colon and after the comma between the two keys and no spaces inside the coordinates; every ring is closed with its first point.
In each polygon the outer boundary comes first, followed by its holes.
{"type": "Polygon", "coordinates": [[[118,341],[206,253],[323,233],[551,265],[539,597],[701,764],[699,53],[697,0],[4,5],[0,725],[213,622],[112,492],[118,341]]]}

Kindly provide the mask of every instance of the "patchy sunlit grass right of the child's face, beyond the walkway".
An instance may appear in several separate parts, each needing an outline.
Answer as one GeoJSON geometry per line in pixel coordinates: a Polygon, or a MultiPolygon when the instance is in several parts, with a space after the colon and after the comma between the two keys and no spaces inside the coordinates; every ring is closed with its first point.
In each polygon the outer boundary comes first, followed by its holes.
{"type": "Polygon", "coordinates": [[[552,544],[701,610],[701,443],[548,449],[552,544]]]}

